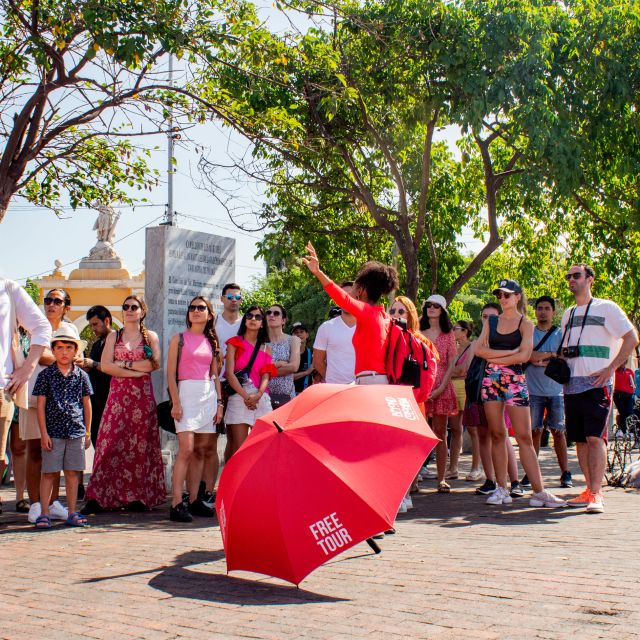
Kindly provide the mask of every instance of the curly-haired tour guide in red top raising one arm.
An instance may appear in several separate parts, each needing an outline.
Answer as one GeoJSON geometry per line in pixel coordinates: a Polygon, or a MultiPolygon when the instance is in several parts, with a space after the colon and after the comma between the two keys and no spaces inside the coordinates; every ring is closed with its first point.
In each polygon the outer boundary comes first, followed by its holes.
{"type": "Polygon", "coordinates": [[[391,320],[377,303],[381,296],[398,288],[396,270],[380,262],[366,262],[353,283],[353,295],[349,295],[320,271],[318,256],[310,242],[302,260],[333,300],[356,319],[353,334],[356,384],[388,384],[385,355],[391,320]]]}

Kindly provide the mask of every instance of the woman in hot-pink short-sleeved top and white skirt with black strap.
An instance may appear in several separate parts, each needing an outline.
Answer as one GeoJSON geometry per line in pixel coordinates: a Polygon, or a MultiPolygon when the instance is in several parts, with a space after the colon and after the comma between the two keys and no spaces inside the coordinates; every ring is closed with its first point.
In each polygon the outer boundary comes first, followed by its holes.
{"type": "Polygon", "coordinates": [[[238,335],[227,340],[225,376],[232,391],[224,421],[232,434],[231,455],[246,440],[256,419],[271,411],[268,385],[277,375],[265,313],[252,305],[242,316],[238,335]]]}

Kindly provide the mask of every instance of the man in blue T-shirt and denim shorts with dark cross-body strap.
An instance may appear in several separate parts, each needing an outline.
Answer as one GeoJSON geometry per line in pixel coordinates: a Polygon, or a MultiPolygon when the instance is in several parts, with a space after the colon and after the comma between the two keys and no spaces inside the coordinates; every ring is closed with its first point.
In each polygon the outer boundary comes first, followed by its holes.
{"type": "MultiPolygon", "coordinates": [[[[555,300],[551,296],[540,296],[536,301],[535,310],[537,323],[533,331],[533,352],[525,372],[529,387],[533,446],[536,453],[540,453],[540,440],[547,427],[553,434],[553,446],[561,472],[560,486],[572,487],[573,481],[567,456],[562,385],[544,373],[549,358],[555,355],[562,339],[560,327],[553,324],[555,300]]],[[[531,487],[526,475],[522,478],[521,484],[525,489],[531,487]]]]}

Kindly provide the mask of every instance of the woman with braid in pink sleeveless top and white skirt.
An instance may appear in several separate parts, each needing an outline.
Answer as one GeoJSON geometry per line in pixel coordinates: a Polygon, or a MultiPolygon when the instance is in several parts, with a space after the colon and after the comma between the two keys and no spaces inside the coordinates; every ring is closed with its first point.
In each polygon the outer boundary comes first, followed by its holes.
{"type": "Polygon", "coordinates": [[[211,303],[195,297],[187,310],[187,331],[169,342],[167,383],[171,415],[176,423],[178,455],[173,466],[170,519],[191,522],[192,516],[213,516],[213,509],[198,497],[204,459],[217,446],[216,424],[222,419],[218,377],[220,345],[211,303]],[[182,501],[185,478],[191,501],[182,501]]]}

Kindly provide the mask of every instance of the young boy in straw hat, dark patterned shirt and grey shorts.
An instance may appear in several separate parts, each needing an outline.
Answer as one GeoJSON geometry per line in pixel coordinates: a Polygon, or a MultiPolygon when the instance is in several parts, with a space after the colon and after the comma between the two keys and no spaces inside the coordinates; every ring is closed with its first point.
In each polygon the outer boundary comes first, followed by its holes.
{"type": "Polygon", "coordinates": [[[42,514],[36,528],[50,529],[49,500],[53,482],[64,471],[69,517],[66,524],[84,527],[87,519],[76,510],[78,485],[85,468],[84,451],[89,447],[91,402],[93,393],[89,376],[74,358],[84,350],[78,330],[70,324],[61,326],[51,338],[55,362],[38,374],[33,395],[38,398],[38,425],[42,443],[42,478],[40,503],[42,514]]]}

